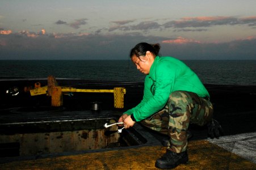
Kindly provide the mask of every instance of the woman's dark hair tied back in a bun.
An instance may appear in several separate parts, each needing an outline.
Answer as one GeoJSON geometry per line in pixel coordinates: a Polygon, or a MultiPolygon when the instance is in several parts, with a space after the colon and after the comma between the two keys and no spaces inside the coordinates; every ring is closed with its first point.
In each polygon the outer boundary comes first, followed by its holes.
{"type": "Polygon", "coordinates": [[[160,44],[148,44],[146,42],[140,42],[131,49],[130,57],[132,58],[134,55],[137,57],[145,56],[147,51],[152,52],[154,57],[158,56],[160,44]]]}

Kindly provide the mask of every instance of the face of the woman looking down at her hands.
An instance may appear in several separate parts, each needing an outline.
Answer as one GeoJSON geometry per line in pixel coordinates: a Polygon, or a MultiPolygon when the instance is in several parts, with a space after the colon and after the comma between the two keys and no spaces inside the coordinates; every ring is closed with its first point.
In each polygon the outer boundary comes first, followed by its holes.
{"type": "Polygon", "coordinates": [[[146,53],[146,56],[137,57],[132,56],[132,62],[136,65],[137,69],[143,74],[149,74],[150,67],[154,61],[154,56],[152,53],[146,53]]]}

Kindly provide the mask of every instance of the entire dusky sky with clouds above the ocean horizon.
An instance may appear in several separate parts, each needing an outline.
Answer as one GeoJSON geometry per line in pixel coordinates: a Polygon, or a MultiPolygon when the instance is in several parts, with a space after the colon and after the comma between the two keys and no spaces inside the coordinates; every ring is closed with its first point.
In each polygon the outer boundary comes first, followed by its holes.
{"type": "Polygon", "coordinates": [[[255,0],[1,0],[0,59],[256,59],[255,0]]]}

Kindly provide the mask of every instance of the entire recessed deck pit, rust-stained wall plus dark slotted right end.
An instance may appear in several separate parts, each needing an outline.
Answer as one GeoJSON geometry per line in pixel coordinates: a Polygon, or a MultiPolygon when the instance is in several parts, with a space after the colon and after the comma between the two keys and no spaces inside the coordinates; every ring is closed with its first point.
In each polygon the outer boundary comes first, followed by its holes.
{"type": "MultiPolygon", "coordinates": [[[[115,120],[110,120],[115,122],[115,120]]],[[[117,126],[107,129],[83,129],[49,133],[0,135],[0,164],[16,160],[51,157],[86,152],[123,150],[129,147],[157,146],[161,143],[142,126],[117,133],[117,126]],[[2,144],[5,145],[5,147],[2,144]]]]}

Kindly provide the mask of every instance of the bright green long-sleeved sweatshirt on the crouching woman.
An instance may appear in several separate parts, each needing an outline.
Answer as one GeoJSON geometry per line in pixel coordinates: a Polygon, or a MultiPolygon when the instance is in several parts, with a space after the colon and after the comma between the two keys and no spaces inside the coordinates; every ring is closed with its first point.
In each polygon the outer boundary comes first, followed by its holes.
{"type": "Polygon", "coordinates": [[[198,76],[186,64],[173,57],[154,59],[144,82],[142,101],[124,114],[132,114],[136,121],[144,120],[157,113],[165,105],[174,91],[190,91],[200,97],[209,97],[209,93],[198,76]]]}

